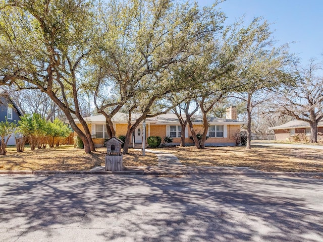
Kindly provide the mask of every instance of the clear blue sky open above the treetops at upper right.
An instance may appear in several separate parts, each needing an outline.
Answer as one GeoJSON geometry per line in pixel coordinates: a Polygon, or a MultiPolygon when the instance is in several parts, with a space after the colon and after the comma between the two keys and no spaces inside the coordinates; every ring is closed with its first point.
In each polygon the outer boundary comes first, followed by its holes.
{"type": "MultiPolygon", "coordinates": [[[[214,1],[197,0],[200,6],[214,1]]],[[[227,0],[219,5],[233,23],[245,15],[246,23],[262,16],[272,23],[278,44],[290,43],[290,50],[307,65],[311,57],[323,59],[323,1],[322,0],[227,0]],[[291,43],[295,41],[295,43],[291,43]]]]}

